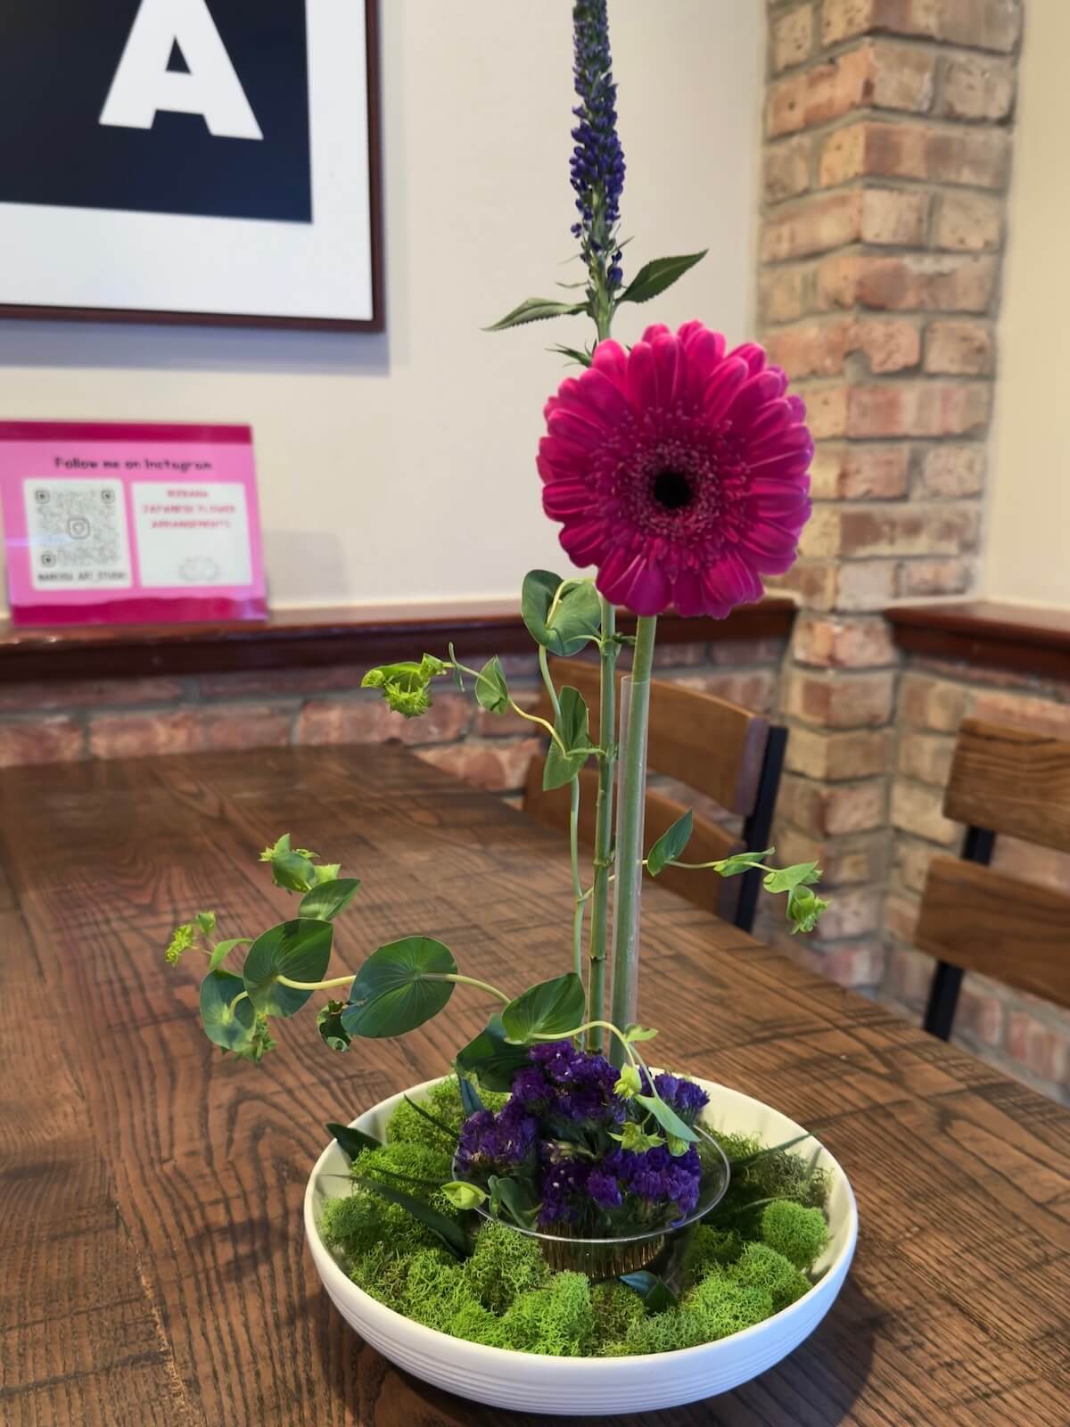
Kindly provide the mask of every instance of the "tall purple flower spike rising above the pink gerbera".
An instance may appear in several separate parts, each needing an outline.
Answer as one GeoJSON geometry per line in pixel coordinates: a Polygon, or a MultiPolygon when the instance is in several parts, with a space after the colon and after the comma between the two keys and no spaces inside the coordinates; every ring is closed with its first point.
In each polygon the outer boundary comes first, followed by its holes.
{"type": "Polygon", "coordinates": [[[613,230],[621,218],[625,158],[616,133],[616,84],[609,53],[606,0],[576,0],[572,9],[574,76],[579,104],[572,110],[571,173],[579,223],[575,237],[589,253],[608,255],[611,291],[621,285],[621,250],[613,230]]]}

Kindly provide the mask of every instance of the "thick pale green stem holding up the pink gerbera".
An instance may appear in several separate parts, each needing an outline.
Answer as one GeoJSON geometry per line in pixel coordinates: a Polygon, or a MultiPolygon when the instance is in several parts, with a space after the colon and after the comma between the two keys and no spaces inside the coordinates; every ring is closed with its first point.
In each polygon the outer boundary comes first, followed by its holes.
{"type": "MultiPolygon", "coordinates": [[[[646,793],[646,721],[649,715],[651,669],[658,616],[636,621],[632,686],[628,704],[628,743],[621,749],[621,808],[616,839],[616,902],[613,916],[613,1002],[612,1019],[628,1026],[635,1020],[639,980],[639,889],[642,868],[643,798],[646,793]]],[[[619,1066],[619,1049],[609,1047],[619,1066]]]]}

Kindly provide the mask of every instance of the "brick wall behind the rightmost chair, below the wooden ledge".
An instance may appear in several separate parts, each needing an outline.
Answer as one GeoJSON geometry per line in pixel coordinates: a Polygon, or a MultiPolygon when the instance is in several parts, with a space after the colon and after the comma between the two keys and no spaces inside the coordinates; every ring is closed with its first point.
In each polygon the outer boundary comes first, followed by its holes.
{"type": "MultiPolygon", "coordinates": [[[[954,733],[963,718],[1012,723],[1070,738],[1070,678],[1030,679],[974,664],[912,659],[897,704],[895,829],[885,929],[887,969],[882,996],[919,1019],[933,962],[912,945],[929,859],[957,853],[963,829],[942,813],[954,733]]],[[[1070,890],[1070,856],[996,839],[993,866],[1026,882],[1070,890]]],[[[1070,1104],[1070,1013],[1036,996],[967,976],[954,1039],[1070,1104]]]]}

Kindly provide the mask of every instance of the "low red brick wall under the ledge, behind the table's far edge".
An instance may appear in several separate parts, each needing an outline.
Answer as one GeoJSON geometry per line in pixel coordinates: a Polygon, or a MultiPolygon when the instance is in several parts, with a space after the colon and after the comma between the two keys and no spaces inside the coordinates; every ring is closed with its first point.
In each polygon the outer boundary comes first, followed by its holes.
{"type": "MultiPolygon", "coordinates": [[[[464,655],[478,664],[492,652],[464,655]]],[[[783,654],[779,639],[666,645],[658,651],[658,675],[766,711],[775,701],[783,654]]],[[[535,656],[506,655],[502,665],[518,704],[534,706],[539,694],[535,656]]],[[[362,672],[340,665],[178,679],[4,684],[0,768],[397,738],[481,788],[518,793],[531,755],[542,749],[531,723],[486,714],[449,684],[435,695],[428,715],[407,722],[379,695],[360,688],[362,672]]]]}

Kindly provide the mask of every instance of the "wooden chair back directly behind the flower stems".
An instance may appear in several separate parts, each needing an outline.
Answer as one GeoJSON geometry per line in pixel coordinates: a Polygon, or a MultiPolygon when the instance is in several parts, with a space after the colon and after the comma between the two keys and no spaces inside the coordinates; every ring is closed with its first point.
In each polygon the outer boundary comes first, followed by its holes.
{"type": "MultiPolygon", "coordinates": [[[[588,706],[591,738],[601,738],[601,675],[596,664],[581,659],[554,659],[551,672],[558,688],[578,689],[588,706]]],[[[618,709],[621,681],[618,672],[618,709]]],[[[552,719],[549,698],[544,694],[539,714],[552,719]]],[[[770,728],[760,714],[738,704],[681,688],[661,679],[651,682],[651,722],[648,731],[648,766],[715,799],[730,813],[743,816],[742,838],[712,818],[695,815],[695,829],[688,843],[688,862],[715,862],[743,849],[768,846],[772,811],[783,765],[786,731],[770,728]]],[[[524,809],[551,828],[566,829],[569,791],[542,789],[544,758],[534,758],[528,768],[524,809]]],[[[588,766],[579,775],[579,836],[593,846],[598,772],[588,766]]],[[[686,803],[658,789],[646,793],[645,843],[649,848],[686,812],[686,803]]],[[[658,880],[689,902],[750,930],[755,916],[759,878],[722,879],[715,872],[689,872],[666,868],[658,880]]]]}

